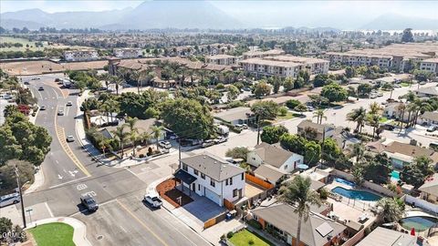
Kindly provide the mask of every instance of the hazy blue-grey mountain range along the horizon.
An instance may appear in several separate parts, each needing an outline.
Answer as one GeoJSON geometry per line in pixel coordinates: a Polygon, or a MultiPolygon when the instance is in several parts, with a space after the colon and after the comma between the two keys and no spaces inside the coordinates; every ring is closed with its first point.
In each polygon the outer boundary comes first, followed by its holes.
{"type": "MultiPolygon", "coordinates": [[[[287,11],[287,10],[285,10],[287,11]]],[[[332,13],[328,16],[311,19],[307,26],[332,26],[342,28],[346,23],[342,15],[332,13]]],[[[247,21],[245,15],[228,15],[207,1],[164,1],[149,0],[135,8],[127,7],[110,11],[78,11],[47,13],[37,8],[0,15],[0,26],[37,29],[42,26],[56,28],[93,27],[103,30],[155,29],[155,28],[200,28],[200,29],[239,29],[264,27],[263,18],[247,21]]],[[[294,20],[281,21],[279,27],[294,26],[294,20]]],[[[374,19],[358,16],[356,29],[438,29],[438,21],[421,17],[403,15],[381,15],[374,19]]],[[[314,29],[333,29],[317,27],[314,29]]],[[[303,28],[303,27],[300,27],[303,28]]],[[[307,28],[307,27],[304,27],[307,28]]]]}

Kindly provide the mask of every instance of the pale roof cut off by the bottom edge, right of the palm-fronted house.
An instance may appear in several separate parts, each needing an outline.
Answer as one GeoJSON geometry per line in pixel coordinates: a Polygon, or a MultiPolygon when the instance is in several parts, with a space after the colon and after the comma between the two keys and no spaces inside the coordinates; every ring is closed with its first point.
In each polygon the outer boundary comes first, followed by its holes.
{"type": "Polygon", "coordinates": [[[417,237],[401,231],[378,227],[356,246],[417,246],[417,237]]]}

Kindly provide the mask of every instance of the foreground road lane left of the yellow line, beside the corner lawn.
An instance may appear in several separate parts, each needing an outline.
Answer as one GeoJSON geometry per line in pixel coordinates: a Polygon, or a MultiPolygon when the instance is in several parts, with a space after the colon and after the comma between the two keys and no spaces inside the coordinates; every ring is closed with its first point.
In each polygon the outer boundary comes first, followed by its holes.
{"type": "Polygon", "coordinates": [[[162,241],[156,232],[148,230],[149,225],[135,220],[123,206],[114,200],[101,205],[94,213],[73,217],[87,225],[87,239],[92,245],[180,245],[162,241]]]}

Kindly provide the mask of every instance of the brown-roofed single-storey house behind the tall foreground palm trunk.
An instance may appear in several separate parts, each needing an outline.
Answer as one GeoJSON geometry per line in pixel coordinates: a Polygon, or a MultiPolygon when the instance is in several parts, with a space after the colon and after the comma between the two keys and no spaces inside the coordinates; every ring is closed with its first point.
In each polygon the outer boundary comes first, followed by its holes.
{"type": "MultiPolygon", "coordinates": [[[[274,204],[266,208],[253,210],[255,220],[258,220],[264,230],[271,229],[287,241],[288,245],[297,245],[298,214],[296,209],[287,204],[274,204]]],[[[339,224],[327,217],[311,212],[308,220],[301,222],[300,245],[306,246],[329,246],[335,241],[340,241],[344,225],[339,224]]],[[[378,245],[378,244],[370,244],[378,245]]]]}

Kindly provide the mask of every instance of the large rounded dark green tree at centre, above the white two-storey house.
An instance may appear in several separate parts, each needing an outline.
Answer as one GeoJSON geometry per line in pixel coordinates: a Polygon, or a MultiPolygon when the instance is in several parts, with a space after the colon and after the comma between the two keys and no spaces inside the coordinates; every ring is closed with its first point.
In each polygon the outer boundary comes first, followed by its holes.
{"type": "Polygon", "coordinates": [[[213,132],[210,110],[193,99],[168,99],[162,103],[161,117],[180,138],[205,139],[213,132]]]}

